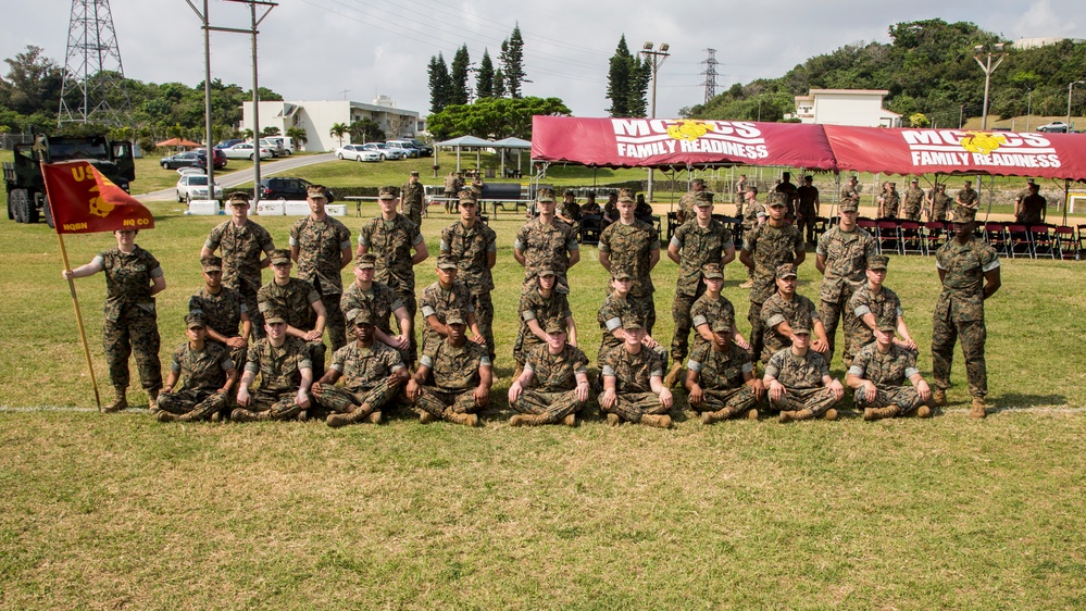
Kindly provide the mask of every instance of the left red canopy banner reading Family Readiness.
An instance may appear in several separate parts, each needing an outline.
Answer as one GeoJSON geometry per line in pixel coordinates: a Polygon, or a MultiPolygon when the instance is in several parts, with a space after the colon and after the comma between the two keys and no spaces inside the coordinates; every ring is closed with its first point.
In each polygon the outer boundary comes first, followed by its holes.
{"type": "Polygon", "coordinates": [[[534,116],[532,159],[606,167],[837,169],[821,125],[686,119],[534,116]]]}

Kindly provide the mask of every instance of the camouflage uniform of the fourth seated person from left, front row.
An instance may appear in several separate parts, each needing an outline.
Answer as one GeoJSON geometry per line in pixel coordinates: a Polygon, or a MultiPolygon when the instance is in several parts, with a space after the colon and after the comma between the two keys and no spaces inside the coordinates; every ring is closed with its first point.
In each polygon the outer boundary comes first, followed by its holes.
{"type": "Polygon", "coordinates": [[[444,417],[446,410],[469,414],[479,410],[474,391],[479,385],[479,367],[490,366],[486,348],[467,341],[460,348],[448,340],[423,350],[420,365],[430,370],[433,385],[422,386],[414,407],[436,417],[444,417]]]}

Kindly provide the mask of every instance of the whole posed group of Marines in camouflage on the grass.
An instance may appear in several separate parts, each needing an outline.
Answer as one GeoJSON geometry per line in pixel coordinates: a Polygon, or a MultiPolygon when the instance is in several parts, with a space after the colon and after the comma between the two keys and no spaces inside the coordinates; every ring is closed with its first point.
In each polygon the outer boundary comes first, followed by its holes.
{"type": "MultiPolygon", "coordinates": [[[[416,175],[400,189],[379,190],[380,213],[362,226],[357,245],[350,230],[327,214],[323,187],[310,188],[311,213],[291,227],[289,249],[276,249],[271,235],[248,219],[246,196],[232,196],[232,219],[211,230],[201,250],[205,286],[190,299],[188,341],[174,351],[165,384],[158,381],[161,388],[155,388],[153,367],[143,363],[148,346],[132,342],[157,417],[323,417],[329,426],[342,426],[378,423],[384,412],[399,407],[414,409],[424,423],[476,425],[494,382],[490,292],[497,236],[482,221],[475,194],[460,191],[459,219],[441,232],[437,282],[416,299],[414,266],[429,253],[420,232],[423,198],[415,184],[416,175]],[[351,261],[354,282],[344,287],[341,270],[351,261]],[[262,284],[265,266],[273,278],[262,284]],[[421,350],[414,329],[419,310],[421,350]],[[178,389],[180,379],[185,384],[178,389]]],[[[807,254],[800,229],[786,217],[788,190],[770,194],[764,207],[756,196],[751,187],[746,197],[753,222],[738,251],[750,270],[750,337],[738,332],[735,307],[721,294],[736,244],[712,217],[711,194],[696,185],[684,197],[684,222],[666,247],[678,264],[669,352],[652,336],[651,272],[660,261],[660,236],[637,219],[633,191],[617,194],[615,220],[599,242],[599,261],[609,274],[597,321],[602,338],[594,379],[569,302],[569,270],[581,259],[577,234],[557,214],[553,191],[539,189],[538,215],[517,230],[513,245],[524,280],[508,395],[519,413],[510,424],[572,426],[595,396],[611,424],[669,427],[675,401],[671,388],[679,383],[706,424],[753,419],[760,411],[777,413],[781,422],[835,420],[846,385],[866,420],[928,416],[931,408],[946,403],[958,339],[974,398],[971,414],[985,415],[983,301],[999,288],[999,261],[973,237],[972,209],[954,210],[953,237],[936,255],[944,289],[934,316],[932,389],[916,367],[918,347],[900,300],[884,286],[888,258],[876,254],[874,238],[857,226],[856,200],[842,197],[839,222],[817,240],[815,266],[823,282],[815,304],[796,292],[797,269],[807,254]],[[845,326],[844,385],[829,375],[839,323],[845,326]]],[[[134,237],[128,252],[134,247],[150,257],[135,247],[134,237]]],[[[118,248],[124,254],[120,235],[118,248]]],[[[111,252],[65,277],[105,271],[108,306],[112,298],[133,302],[126,291],[146,292],[140,283],[164,288],[157,262],[134,267],[150,275],[133,275],[124,265],[102,264],[111,252]]],[[[150,295],[136,301],[145,297],[150,295]]],[[[117,390],[111,410],[127,404],[128,353],[117,348],[122,339],[128,340],[103,335],[117,390]],[[113,362],[122,356],[123,377],[121,362],[113,362]]],[[[155,342],[155,354],[157,348],[155,342]]]]}

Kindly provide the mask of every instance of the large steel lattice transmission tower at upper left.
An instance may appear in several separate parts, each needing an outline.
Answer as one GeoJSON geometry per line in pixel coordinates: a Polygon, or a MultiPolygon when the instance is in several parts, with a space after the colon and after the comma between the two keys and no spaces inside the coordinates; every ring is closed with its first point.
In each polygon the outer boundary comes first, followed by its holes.
{"type": "Polygon", "coordinates": [[[64,84],[57,124],[132,123],[124,67],[109,0],[72,0],[64,84]]]}

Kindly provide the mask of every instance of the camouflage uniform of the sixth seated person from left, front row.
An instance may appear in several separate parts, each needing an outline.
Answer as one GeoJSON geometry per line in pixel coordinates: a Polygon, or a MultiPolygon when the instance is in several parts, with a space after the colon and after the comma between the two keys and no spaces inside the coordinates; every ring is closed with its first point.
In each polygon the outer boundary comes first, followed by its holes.
{"type": "Polygon", "coordinates": [[[664,373],[660,358],[652,350],[642,347],[638,353],[631,354],[625,346],[620,346],[603,357],[600,370],[604,377],[615,378],[617,400],[611,413],[629,422],[640,422],[645,414],[667,413],[667,408],[652,391],[651,378],[662,378],[664,373]]]}

